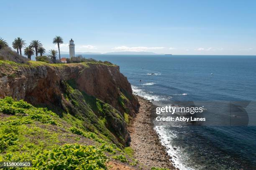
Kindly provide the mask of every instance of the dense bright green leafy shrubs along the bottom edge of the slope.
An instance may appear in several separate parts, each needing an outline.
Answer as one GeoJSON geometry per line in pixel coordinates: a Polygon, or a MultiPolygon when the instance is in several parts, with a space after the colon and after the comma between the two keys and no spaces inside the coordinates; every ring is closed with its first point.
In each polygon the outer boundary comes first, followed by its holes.
{"type": "MultiPolygon", "coordinates": [[[[33,168],[40,170],[104,170],[107,157],[94,146],[64,145],[53,150],[38,150],[31,153],[7,153],[5,161],[31,161],[33,168]]],[[[14,168],[13,168],[14,169],[14,168]]]]}

